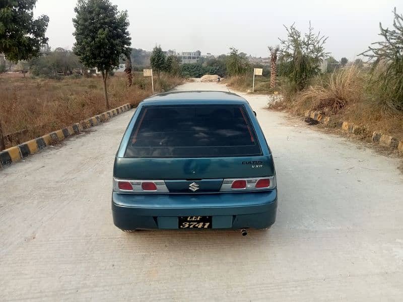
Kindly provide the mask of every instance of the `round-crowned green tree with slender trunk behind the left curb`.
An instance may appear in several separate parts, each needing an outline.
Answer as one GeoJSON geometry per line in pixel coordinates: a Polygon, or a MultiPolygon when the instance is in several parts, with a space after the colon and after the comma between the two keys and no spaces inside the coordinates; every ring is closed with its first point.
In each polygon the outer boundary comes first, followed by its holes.
{"type": "Polygon", "coordinates": [[[74,11],[77,15],[73,19],[76,37],[73,51],[84,65],[101,71],[108,109],[108,75],[131,50],[127,11],[118,11],[109,0],[78,0],[74,11]]]}

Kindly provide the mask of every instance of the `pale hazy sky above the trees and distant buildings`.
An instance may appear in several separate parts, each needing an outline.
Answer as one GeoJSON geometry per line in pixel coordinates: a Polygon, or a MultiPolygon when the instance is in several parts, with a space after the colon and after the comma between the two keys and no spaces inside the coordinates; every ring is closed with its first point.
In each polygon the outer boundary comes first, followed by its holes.
{"type": "MultiPolygon", "coordinates": [[[[47,36],[52,48],[71,49],[75,42],[72,18],[77,0],[38,0],[35,15],[50,18],[47,36]]],[[[380,37],[379,22],[392,24],[392,10],[403,13],[401,0],[338,1],[157,1],[112,0],[127,10],[131,46],[151,50],[200,50],[227,53],[234,46],[253,56],[268,56],[267,45],[285,37],[283,27],[296,23],[305,31],[309,20],[328,36],[326,50],[350,60],[380,37]]]]}

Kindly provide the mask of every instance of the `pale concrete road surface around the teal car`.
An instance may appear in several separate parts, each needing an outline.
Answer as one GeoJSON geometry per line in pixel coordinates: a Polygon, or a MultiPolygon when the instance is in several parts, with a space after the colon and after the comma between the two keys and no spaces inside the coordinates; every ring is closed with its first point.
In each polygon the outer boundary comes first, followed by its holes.
{"type": "Polygon", "coordinates": [[[116,229],[113,157],[131,110],[0,171],[0,300],[401,301],[398,160],[247,99],[275,157],[271,230],[116,229]]]}

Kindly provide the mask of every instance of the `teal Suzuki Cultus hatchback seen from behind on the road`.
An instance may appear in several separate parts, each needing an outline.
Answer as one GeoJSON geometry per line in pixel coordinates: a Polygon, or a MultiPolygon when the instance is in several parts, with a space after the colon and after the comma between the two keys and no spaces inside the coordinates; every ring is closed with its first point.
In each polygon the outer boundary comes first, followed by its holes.
{"type": "Polygon", "coordinates": [[[113,167],[119,229],[267,229],[276,212],[272,153],[245,99],[191,91],[139,104],[113,167]]]}

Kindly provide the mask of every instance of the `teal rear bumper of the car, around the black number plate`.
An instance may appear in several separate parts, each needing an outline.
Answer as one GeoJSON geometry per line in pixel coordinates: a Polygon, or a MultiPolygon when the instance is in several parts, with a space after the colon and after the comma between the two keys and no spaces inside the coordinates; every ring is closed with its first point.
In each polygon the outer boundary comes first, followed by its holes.
{"type": "Polygon", "coordinates": [[[213,216],[213,229],[264,229],[277,213],[277,189],[217,194],[112,193],[114,224],[122,230],[178,229],[178,216],[213,216]]]}

